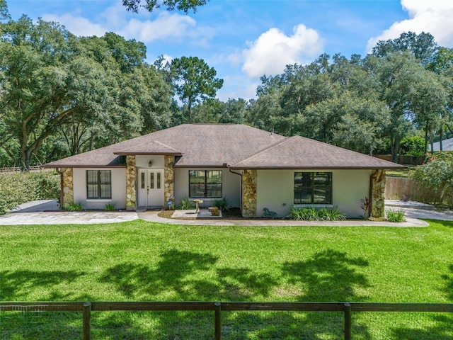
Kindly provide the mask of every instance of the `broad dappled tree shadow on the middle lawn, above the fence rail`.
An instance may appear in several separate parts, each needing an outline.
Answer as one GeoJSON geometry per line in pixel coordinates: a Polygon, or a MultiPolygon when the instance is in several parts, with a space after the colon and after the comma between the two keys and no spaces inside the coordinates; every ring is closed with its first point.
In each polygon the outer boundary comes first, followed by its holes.
{"type": "Polygon", "coordinates": [[[215,268],[217,261],[211,254],[171,249],[161,254],[154,268],[120,263],[99,280],[115,285],[128,298],[176,301],[243,300],[268,295],[277,284],[271,276],[247,268],[215,268]]]}

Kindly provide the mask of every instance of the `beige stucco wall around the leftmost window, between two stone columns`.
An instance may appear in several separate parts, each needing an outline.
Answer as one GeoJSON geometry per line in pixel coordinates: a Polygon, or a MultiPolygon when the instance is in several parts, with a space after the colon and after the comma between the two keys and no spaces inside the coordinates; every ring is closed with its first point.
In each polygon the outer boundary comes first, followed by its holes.
{"type": "Polygon", "coordinates": [[[84,209],[104,209],[106,203],[112,203],[116,209],[126,208],[126,169],[84,169],[74,168],[74,203],[81,203],[84,209]],[[112,199],[87,200],[86,199],[86,170],[111,170],[112,171],[112,199]]]}

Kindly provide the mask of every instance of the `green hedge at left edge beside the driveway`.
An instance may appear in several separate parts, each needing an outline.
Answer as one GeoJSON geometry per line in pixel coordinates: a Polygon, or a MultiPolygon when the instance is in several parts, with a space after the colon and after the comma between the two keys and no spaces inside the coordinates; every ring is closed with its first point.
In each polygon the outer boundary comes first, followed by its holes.
{"type": "Polygon", "coordinates": [[[59,176],[53,172],[0,174],[0,215],[30,200],[59,198],[59,176]]]}

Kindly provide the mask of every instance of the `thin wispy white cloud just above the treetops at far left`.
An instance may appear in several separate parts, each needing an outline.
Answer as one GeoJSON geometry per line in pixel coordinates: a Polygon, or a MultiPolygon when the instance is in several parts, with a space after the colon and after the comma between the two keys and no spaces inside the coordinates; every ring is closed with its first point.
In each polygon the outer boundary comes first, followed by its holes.
{"type": "Polygon", "coordinates": [[[107,31],[102,25],[91,23],[88,19],[81,16],[73,16],[71,13],[65,13],[62,16],[45,14],[42,16],[42,20],[61,23],[69,32],[77,36],[90,37],[91,35],[97,35],[101,37],[107,31]]]}

